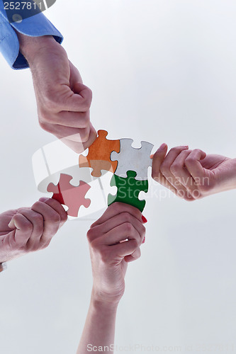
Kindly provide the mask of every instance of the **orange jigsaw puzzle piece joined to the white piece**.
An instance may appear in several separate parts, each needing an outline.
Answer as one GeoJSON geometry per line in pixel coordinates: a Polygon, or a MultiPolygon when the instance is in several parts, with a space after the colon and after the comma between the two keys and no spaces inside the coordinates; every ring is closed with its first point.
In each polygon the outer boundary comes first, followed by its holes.
{"type": "Polygon", "coordinates": [[[120,152],[120,140],[108,140],[106,130],[99,130],[99,136],[89,147],[87,156],[79,155],[79,167],[91,167],[91,175],[101,176],[101,170],[115,173],[118,161],[111,161],[111,152],[120,152]]]}

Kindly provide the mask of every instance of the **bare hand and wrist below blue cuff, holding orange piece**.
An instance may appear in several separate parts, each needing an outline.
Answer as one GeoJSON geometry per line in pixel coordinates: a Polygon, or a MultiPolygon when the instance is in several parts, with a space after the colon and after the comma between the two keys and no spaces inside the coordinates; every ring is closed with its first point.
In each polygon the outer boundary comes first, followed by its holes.
{"type": "Polygon", "coordinates": [[[18,38],[32,72],[40,126],[74,152],[83,152],[96,139],[89,115],[91,90],[54,38],[20,33],[18,38]]]}

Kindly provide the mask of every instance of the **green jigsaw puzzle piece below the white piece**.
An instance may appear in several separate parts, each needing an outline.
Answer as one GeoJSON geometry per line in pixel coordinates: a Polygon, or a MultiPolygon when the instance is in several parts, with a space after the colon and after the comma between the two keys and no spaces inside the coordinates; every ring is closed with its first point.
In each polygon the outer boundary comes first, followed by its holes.
{"type": "Polygon", "coordinates": [[[147,193],[148,181],[135,180],[137,173],[135,171],[128,171],[126,178],[113,175],[111,178],[111,187],[116,185],[118,188],[116,195],[108,195],[108,205],[113,202],[125,202],[126,204],[133,205],[142,212],[145,208],[146,201],[139,200],[138,195],[143,190],[147,193]]]}

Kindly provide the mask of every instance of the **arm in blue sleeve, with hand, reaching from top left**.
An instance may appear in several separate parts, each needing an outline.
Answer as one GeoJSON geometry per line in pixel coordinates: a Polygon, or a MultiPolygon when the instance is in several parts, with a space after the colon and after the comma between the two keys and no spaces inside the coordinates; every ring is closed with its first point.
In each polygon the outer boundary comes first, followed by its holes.
{"type": "Polygon", "coordinates": [[[43,13],[10,25],[0,1],[0,51],[14,69],[30,67],[40,126],[79,153],[96,139],[92,94],[60,42],[43,13]]]}

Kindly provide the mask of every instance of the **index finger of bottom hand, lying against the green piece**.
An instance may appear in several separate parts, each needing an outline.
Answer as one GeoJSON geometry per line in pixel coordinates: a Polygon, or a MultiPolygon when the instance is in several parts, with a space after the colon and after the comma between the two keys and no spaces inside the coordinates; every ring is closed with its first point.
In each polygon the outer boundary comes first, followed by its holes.
{"type": "Polygon", "coordinates": [[[91,227],[98,224],[103,224],[103,222],[106,222],[108,219],[111,219],[111,217],[114,217],[122,212],[128,212],[130,215],[133,215],[133,217],[136,217],[140,222],[142,222],[142,213],[137,209],[137,207],[133,207],[133,205],[128,205],[123,202],[114,202],[106,209],[106,212],[104,212],[103,215],[96,222],[94,222],[94,224],[91,224],[91,227]]]}

